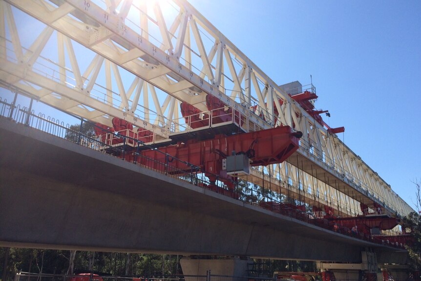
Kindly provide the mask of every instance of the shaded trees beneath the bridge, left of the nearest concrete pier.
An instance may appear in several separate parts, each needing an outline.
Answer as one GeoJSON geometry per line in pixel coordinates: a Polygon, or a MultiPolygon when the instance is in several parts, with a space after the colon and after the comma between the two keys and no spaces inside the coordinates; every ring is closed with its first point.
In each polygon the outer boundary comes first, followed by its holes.
{"type": "MultiPolygon", "coordinates": [[[[0,248],[0,277],[7,248],[0,248]]],[[[13,280],[16,273],[66,274],[70,251],[10,248],[6,279],[13,280]]],[[[177,255],[106,253],[77,251],[74,272],[96,272],[100,275],[158,277],[181,273],[177,255]]]]}

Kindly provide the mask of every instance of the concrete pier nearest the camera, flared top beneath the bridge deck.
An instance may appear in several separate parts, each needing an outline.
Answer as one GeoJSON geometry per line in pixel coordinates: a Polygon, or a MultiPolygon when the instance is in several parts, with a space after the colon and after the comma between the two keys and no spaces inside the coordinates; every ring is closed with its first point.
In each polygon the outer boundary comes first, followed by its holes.
{"type": "MultiPolygon", "coordinates": [[[[186,281],[205,281],[203,277],[210,271],[210,281],[216,277],[212,275],[231,276],[218,278],[215,281],[247,281],[248,265],[252,263],[249,258],[227,257],[223,259],[190,258],[180,259],[181,268],[186,281]],[[192,277],[194,276],[194,277],[192,277]]],[[[208,281],[208,280],[207,280],[208,281]]]]}

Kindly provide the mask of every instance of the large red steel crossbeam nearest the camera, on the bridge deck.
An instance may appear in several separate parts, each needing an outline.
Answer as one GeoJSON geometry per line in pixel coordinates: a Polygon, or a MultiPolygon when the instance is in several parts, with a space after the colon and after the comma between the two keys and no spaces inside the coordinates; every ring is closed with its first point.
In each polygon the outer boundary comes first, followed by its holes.
{"type": "MultiPolygon", "coordinates": [[[[219,178],[233,189],[232,182],[225,180],[230,176],[223,169],[223,159],[233,153],[245,154],[250,160],[250,166],[281,163],[298,149],[298,138],[301,135],[301,132],[292,132],[289,126],[284,126],[231,136],[216,135],[213,139],[202,141],[191,139],[167,147],[143,150],[143,157],[139,161],[142,163],[147,159],[155,159],[165,163],[175,157],[181,160],[171,164],[177,170],[190,171],[191,164],[198,166],[210,179],[211,185],[219,178]]],[[[154,168],[159,169],[159,165],[154,168]]]]}

